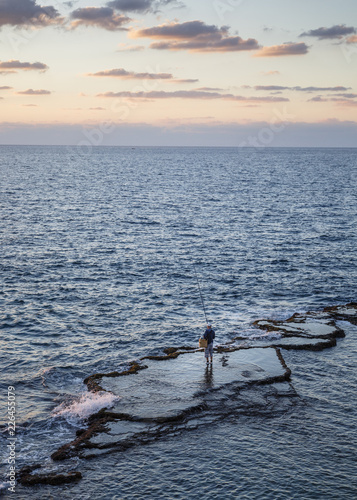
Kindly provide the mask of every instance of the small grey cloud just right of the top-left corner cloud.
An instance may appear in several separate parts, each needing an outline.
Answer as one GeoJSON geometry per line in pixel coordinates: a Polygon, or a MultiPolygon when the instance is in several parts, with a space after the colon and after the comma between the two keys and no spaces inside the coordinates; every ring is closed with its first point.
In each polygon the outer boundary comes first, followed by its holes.
{"type": "Polygon", "coordinates": [[[123,25],[131,19],[121,14],[116,14],[110,7],[84,7],[71,13],[71,28],[79,26],[92,26],[108,31],[127,30],[123,25]]]}

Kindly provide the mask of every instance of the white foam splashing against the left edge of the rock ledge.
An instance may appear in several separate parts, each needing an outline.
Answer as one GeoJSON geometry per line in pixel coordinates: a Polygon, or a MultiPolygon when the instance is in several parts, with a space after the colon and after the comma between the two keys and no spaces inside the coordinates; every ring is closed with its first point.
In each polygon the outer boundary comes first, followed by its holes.
{"type": "Polygon", "coordinates": [[[88,392],[72,401],[64,401],[52,411],[52,416],[69,420],[87,418],[102,408],[112,407],[118,399],[118,396],[111,392],[88,392]]]}

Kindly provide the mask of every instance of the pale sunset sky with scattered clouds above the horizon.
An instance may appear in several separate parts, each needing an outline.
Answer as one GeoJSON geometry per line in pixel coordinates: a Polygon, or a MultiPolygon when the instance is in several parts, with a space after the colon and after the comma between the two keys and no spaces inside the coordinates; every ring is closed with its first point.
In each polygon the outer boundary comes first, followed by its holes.
{"type": "Polygon", "coordinates": [[[0,144],[356,147],[356,0],[0,0],[0,144]]]}

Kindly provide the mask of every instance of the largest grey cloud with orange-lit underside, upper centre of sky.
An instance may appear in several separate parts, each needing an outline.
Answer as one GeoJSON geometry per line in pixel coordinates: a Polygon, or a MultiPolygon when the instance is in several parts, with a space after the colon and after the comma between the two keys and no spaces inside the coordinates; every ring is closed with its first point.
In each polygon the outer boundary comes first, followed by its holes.
{"type": "Polygon", "coordinates": [[[150,45],[150,48],[157,50],[237,52],[259,48],[254,38],[243,40],[239,36],[229,36],[227,26],[219,28],[202,21],[162,24],[153,28],[132,31],[130,37],[159,40],[150,45]]]}

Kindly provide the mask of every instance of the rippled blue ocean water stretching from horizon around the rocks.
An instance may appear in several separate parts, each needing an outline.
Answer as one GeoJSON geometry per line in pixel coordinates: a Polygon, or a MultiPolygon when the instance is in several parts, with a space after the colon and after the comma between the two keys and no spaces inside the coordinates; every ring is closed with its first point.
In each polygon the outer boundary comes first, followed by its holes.
{"type": "MultiPolygon", "coordinates": [[[[357,149],[0,147],[0,390],[16,390],[17,468],[50,463],[113,404],[83,380],[168,346],[356,301],[357,149]]],[[[357,327],[321,352],[283,351],[289,395],[251,388],[125,453],[73,459],[83,479],[24,499],[354,499],[357,327]]],[[[264,332],[260,332],[263,336],[264,332]]],[[[214,367],[214,369],[216,369],[214,367]]],[[[134,394],[135,396],[135,394],[134,394]]],[[[61,466],[59,466],[61,467],[61,466]]]]}

